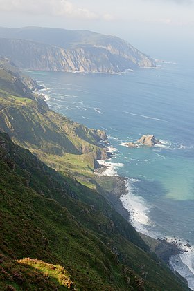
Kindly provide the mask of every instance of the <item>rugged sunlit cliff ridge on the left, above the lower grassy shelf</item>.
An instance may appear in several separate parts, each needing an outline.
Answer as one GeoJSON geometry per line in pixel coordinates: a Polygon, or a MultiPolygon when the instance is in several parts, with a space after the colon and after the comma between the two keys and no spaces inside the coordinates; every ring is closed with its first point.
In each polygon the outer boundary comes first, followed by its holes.
{"type": "Polygon", "coordinates": [[[0,66],[0,131],[17,144],[45,154],[89,153],[94,159],[107,158],[98,143],[107,140],[104,131],[88,129],[49,110],[42,97],[27,86],[36,84],[33,79],[20,75],[6,59],[0,59],[0,66]]]}

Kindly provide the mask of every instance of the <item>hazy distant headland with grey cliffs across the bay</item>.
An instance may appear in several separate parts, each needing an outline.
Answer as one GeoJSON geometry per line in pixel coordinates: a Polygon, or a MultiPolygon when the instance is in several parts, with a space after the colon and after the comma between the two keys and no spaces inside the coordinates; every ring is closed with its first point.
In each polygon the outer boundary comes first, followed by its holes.
{"type": "Polygon", "coordinates": [[[0,28],[0,55],[20,68],[118,73],[155,60],[111,35],[57,28],[0,28]]]}

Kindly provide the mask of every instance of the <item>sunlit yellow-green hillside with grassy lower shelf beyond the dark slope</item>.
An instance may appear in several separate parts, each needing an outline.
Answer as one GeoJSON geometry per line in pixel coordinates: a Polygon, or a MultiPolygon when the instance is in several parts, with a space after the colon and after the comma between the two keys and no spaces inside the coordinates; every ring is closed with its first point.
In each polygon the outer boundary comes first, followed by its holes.
{"type": "MultiPolygon", "coordinates": [[[[0,66],[4,66],[1,63],[0,58],[0,66]]],[[[95,188],[90,177],[95,159],[107,158],[98,144],[101,139],[106,140],[105,133],[50,111],[41,97],[31,93],[30,88],[27,90],[24,77],[16,70],[10,64],[8,69],[0,70],[0,130],[47,165],[64,174],[76,174],[83,184],[95,188]]]]}

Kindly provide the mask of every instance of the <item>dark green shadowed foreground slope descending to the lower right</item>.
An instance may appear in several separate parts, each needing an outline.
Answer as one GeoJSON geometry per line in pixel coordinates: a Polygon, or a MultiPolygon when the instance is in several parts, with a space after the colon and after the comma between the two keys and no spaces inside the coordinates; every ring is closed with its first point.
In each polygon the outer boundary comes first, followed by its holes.
{"type": "Polygon", "coordinates": [[[66,288],[51,265],[64,267],[65,282],[78,290],[187,290],[97,192],[64,179],[5,134],[0,155],[4,290],[36,290],[45,274],[48,285],[66,288]],[[26,257],[44,263],[18,261],[26,257]]]}

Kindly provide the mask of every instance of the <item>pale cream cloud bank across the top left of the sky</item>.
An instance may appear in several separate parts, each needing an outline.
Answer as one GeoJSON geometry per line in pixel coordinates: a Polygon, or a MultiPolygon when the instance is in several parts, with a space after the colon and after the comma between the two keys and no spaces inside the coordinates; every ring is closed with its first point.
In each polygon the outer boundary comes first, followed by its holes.
{"type": "Polygon", "coordinates": [[[114,20],[113,15],[109,13],[96,13],[87,8],[76,6],[68,0],[0,0],[0,11],[23,12],[32,15],[65,16],[88,20],[114,20]]]}

